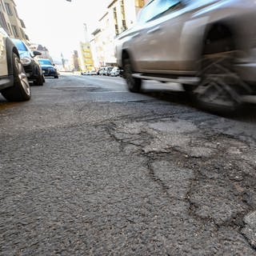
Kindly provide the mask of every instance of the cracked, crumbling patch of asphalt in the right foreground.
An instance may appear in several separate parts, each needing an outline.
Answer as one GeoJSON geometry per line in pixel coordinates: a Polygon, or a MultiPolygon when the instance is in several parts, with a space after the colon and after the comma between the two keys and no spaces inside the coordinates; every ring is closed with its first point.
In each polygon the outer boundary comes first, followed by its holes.
{"type": "MultiPolygon", "coordinates": [[[[251,238],[248,228],[246,230],[246,223],[243,219],[254,210],[254,202],[250,198],[252,196],[256,198],[256,182],[253,182],[253,177],[237,164],[243,160],[241,155],[253,154],[253,150],[235,136],[218,134],[216,131],[213,134],[204,133],[204,131],[203,134],[200,134],[201,131],[199,131],[198,136],[198,130],[196,130],[197,136],[194,138],[195,133],[192,127],[193,135],[190,134],[190,136],[193,139],[190,139],[189,146],[196,147],[197,144],[200,146],[200,143],[205,141],[206,147],[211,147],[209,154],[199,156],[200,159],[203,159],[200,160],[201,162],[198,162],[197,156],[187,155],[183,144],[181,147],[170,146],[168,150],[163,147],[146,151],[145,147],[158,137],[154,129],[152,130],[152,126],[158,124],[159,120],[162,121],[162,118],[150,118],[150,122],[146,124],[146,118],[139,119],[137,117],[136,121],[125,123],[115,121],[104,127],[110,137],[119,143],[120,150],[125,151],[127,144],[133,145],[135,149],[131,153],[146,158],[145,165],[149,177],[158,183],[165,197],[169,200],[187,202],[189,205],[187,213],[190,217],[202,223],[214,224],[217,231],[223,227],[237,230],[246,239],[248,245],[255,250],[254,240],[251,238]],[[136,143],[133,143],[134,141],[136,143]],[[173,167],[178,171],[191,170],[191,174],[184,181],[185,183],[182,183],[185,190],[187,189],[183,196],[173,196],[171,193],[174,190],[171,190],[173,188],[170,187],[170,184],[174,186],[175,182],[170,181],[168,184],[166,183],[168,174],[165,173],[166,176],[162,176],[160,173],[159,176],[157,173],[158,169],[154,165],[162,163],[162,161],[169,164],[173,162],[173,167]],[[215,202],[216,200],[217,202],[215,202]]],[[[165,118],[165,120],[167,125],[170,125],[170,117],[165,118]]],[[[173,119],[171,118],[171,120],[173,119]]],[[[165,132],[165,129],[167,128],[163,127],[162,131],[165,132]]],[[[175,129],[177,127],[174,126],[175,129]]],[[[170,131],[172,132],[172,129],[167,129],[167,132],[170,131]]],[[[185,132],[183,130],[182,134],[184,138],[186,130],[185,132]]],[[[255,170],[252,162],[250,162],[250,166],[255,170]]],[[[177,182],[181,182],[180,177],[176,180],[177,182]]],[[[182,190],[182,186],[178,184],[178,190],[182,190]]],[[[178,193],[177,191],[175,193],[178,193]]]]}

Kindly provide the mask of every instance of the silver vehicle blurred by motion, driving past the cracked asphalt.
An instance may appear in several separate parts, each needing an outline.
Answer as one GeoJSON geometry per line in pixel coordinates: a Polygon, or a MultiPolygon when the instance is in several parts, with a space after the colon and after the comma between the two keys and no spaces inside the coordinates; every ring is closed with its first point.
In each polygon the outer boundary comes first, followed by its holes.
{"type": "Polygon", "coordinates": [[[116,39],[129,90],[179,82],[207,109],[237,109],[256,94],[255,14],[252,0],[150,1],[116,39]]]}

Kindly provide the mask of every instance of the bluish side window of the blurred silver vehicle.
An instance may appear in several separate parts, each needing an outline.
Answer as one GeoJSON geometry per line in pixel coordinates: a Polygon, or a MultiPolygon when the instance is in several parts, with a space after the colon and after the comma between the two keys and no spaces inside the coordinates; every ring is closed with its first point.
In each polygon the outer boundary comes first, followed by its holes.
{"type": "Polygon", "coordinates": [[[142,9],[138,22],[149,22],[155,18],[162,17],[162,15],[169,14],[170,11],[176,10],[181,5],[182,2],[180,0],[154,0],[142,9]]]}

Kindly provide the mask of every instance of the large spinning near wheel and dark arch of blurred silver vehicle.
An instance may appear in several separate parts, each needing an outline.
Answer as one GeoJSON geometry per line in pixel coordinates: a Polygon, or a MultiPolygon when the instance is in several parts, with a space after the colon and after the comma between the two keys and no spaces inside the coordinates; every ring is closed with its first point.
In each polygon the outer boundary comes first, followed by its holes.
{"type": "Polygon", "coordinates": [[[202,54],[197,88],[200,107],[215,113],[234,113],[242,104],[241,94],[250,90],[234,70],[235,50],[231,38],[208,42],[202,54]]]}

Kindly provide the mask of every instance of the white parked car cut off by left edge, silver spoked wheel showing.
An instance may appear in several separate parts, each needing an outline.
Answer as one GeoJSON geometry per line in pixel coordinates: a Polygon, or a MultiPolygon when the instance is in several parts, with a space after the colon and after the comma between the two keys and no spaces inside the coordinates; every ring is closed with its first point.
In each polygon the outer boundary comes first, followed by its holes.
{"type": "Polygon", "coordinates": [[[8,101],[27,101],[30,83],[22,66],[18,49],[0,26],[0,92],[8,101]]]}

